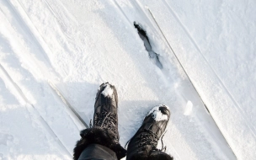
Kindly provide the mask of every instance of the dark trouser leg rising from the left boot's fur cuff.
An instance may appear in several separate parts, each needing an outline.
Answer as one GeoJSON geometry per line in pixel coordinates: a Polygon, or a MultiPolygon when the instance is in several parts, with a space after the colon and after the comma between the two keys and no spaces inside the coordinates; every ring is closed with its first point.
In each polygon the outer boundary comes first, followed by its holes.
{"type": "Polygon", "coordinates": [[[83,150],[78,160],[117,160],[117,157],[108,147],[90,144],[83,150]]]}

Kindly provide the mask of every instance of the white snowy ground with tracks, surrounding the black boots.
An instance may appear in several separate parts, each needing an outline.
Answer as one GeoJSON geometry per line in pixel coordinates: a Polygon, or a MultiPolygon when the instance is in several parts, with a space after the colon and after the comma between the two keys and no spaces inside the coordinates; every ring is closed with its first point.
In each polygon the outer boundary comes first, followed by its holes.
{"type": "Polygon", "coordinates": [[[163,140],[175,159],[256,156],[253,0],[0,4],[0,159],[72,159],[83,125],[51,83],[88,123],[104,82],[119,93],[122,146],[153,106],[166,104],[172,115],[163,140]],[[148,56],[134,21],[163,68],[148,56]]]}

